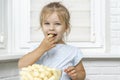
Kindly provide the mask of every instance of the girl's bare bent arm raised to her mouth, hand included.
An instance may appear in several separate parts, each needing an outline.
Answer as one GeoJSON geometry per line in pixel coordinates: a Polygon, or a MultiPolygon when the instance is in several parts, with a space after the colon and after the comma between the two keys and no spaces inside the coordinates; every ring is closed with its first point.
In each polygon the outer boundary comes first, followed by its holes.
{"type": "Polygon", "coordinates": [[[27,67],[34,64],[46,51],[55,47],[55,41],[53,37],[46,37],[41,44],[28,54],[24,55],[18,62],[18,67],[27,67]]]}

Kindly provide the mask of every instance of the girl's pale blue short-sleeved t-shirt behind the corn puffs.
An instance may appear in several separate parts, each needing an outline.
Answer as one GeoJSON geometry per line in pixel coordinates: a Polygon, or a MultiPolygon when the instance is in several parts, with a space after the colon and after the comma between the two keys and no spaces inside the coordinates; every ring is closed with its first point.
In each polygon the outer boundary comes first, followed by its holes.
{"type": "Polygon", "coordinates": [[[71,80],[64,72],[64,69],[69,66],[77,65],[82,57],[83,56],[79,48],[66,44],[57,44],[56,47],[44,53],[36,63],[60,69],[62,70],[60,80],[71,80]]]}

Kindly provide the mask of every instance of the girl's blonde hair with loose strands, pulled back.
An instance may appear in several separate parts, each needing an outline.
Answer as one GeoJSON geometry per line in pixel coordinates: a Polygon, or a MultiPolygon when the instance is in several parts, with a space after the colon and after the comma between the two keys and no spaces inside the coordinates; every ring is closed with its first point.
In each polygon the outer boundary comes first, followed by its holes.
{"type": "Polygon", "coordinates": [[[65,6],[60,4],[60,2],[51,2],[43,7],[40,15],[40,25],[42,26],[46,17],[53,12],[56,12],[62,25],[66,27],[66,35],[70,33],[70,14],[65,6]]]}

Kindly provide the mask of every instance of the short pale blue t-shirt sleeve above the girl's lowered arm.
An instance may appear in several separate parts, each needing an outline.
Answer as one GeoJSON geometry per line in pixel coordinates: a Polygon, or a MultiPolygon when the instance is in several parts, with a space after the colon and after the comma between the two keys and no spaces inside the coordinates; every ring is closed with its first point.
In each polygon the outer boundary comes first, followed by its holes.
{"type": "Polygon", "coordinates": [[[75,52],[74,66],[76,66],[83,58],[83,54],[80,49],[77,49],[75,52]]]}

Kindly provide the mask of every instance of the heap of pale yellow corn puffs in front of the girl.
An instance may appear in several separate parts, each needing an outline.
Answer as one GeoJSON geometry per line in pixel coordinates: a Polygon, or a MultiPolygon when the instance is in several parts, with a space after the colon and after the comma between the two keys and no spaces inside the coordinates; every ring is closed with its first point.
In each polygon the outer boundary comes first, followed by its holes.
{"type": "Polygon", "coordinates": [[[20,70],[21,80],[59,80],[60,76],[60,70],[39,64],[33,64],[20,70]]]}

